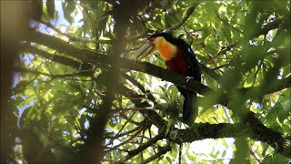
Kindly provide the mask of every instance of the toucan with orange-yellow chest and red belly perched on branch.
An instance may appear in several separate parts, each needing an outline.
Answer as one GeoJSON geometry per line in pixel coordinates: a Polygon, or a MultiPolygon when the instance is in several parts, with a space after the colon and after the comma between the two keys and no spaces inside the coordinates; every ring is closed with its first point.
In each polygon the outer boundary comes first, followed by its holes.
{"type": "MultiPolygon", "coordinates": [[[[137,50],[135,59],[141,60],[153,52],[160,54],[168,69],[185,75],[188,79],[193,78],[201,82],[201,73],[196,56],[191,46],[183,39],[168,33],[156,33],[149,36],[146,43],[137,50]]],[[[184,87],[177,87],[177,89],[185,97],[183,122],[191,124],[198,115],[197,95],[184,87]]]]}

